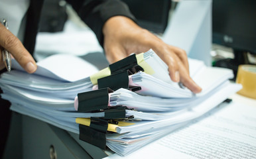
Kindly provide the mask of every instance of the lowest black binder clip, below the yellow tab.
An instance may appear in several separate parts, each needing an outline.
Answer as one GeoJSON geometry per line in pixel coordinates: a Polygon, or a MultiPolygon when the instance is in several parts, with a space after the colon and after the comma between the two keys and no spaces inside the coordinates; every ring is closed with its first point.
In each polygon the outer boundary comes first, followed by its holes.
{"type": "Polygon", "coordinates": [[[79,139],[105,149],[108,121],[91,117],[90,127],[79,125],[79,139]]]}

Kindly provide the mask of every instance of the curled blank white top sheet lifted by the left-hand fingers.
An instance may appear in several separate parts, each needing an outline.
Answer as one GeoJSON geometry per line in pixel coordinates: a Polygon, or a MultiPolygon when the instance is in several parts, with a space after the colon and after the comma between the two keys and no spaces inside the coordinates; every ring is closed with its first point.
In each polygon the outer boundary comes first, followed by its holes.
{"type": "MultiPolygon", "coordinates": [[[[68,54],[55,54],[44,58],[36,63],[37,70],[34,72],[36,75],[44,76],[45,78],[56,79],[59,81],[78,81],[80,79],[88,78],[99,70],[90,62],[83,60],[77,56],[68,54]]],[[[15,70],[23,71],[23,68],[16,60],[12,60],[12,66],[15,70]]],[[[9,74],[17,74],[16,72],[9,74]]],[[[34,75],[32,74],[32,75],[34,75]]],[[[30,75],[32,77],[32,75],[30,75]]],[[[27,79],[27,73],[23,74],[27,79]]],[[[14,75],[15,77],[15,75],[14,75]]],[[[21,81],[17,79],[17,81],[21,81]]]]}

